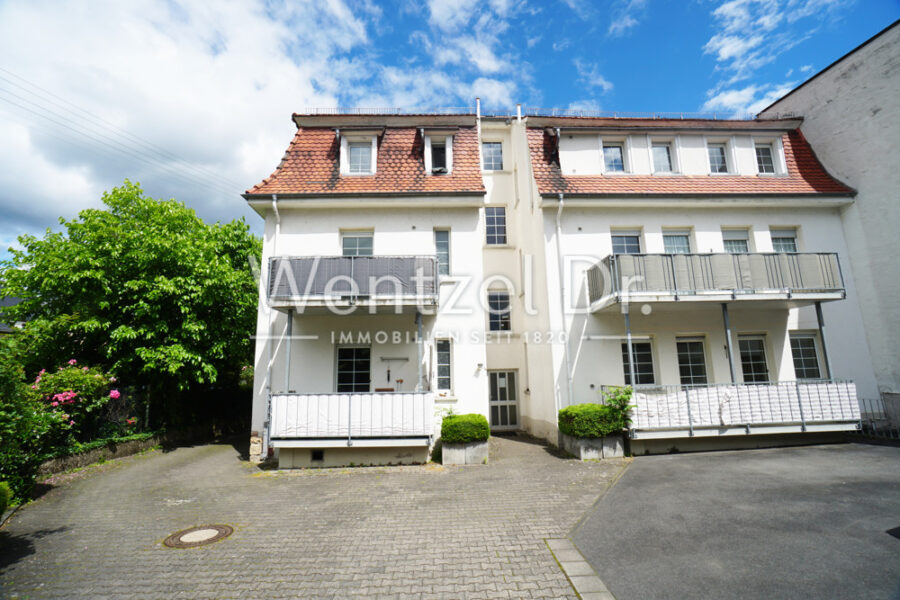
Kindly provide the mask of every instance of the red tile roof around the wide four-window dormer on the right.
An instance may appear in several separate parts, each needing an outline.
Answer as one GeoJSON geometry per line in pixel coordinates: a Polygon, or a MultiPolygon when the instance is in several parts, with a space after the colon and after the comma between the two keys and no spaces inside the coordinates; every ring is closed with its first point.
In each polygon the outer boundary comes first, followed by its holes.
{"type": "Polygon", "coordinates": [[[786,177],[738,175],[563,175],[556,156],[556,140],[545,129],[528,130],[531,165],[538,192],[575,195],[664,195],[698,196],[855,194],[829,175],[819,163],[799,129],[782,138],[786,177]]]}

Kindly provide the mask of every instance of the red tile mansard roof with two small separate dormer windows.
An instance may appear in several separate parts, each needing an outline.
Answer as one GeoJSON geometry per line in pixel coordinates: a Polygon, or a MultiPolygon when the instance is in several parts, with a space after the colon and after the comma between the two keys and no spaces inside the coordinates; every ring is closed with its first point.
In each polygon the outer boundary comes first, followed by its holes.
{"type": "Polygon", "coordinates": [[[300,128],[281,164],[245,196],[268,194],[397,194],[484,193],[478,144],[473,127],[460,127],[453,137],[453,170],[426,175],[423,141],[414,127],[384,130],[378,142],[374,175],[341,176],[340,142],[333,129],[300,128]]]}

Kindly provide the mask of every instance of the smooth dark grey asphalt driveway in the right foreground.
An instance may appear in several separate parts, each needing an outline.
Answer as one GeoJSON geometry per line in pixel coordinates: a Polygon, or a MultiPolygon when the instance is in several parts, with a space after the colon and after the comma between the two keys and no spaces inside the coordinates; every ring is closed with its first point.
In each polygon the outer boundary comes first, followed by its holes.
{"type": "Polygon", "coordinates": [[[574,534],[618,600],[900,599],[900,448],[639,457],[574,534]]]}

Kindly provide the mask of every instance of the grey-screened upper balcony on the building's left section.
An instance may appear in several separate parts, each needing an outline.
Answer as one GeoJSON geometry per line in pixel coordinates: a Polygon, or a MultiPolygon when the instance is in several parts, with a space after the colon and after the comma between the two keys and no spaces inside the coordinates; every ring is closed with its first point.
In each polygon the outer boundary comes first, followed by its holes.
{"type": "Polygon", "coordinates": [[[273,308],[436,306],[434,256],[278,256],[269,260],[273,308]]]}

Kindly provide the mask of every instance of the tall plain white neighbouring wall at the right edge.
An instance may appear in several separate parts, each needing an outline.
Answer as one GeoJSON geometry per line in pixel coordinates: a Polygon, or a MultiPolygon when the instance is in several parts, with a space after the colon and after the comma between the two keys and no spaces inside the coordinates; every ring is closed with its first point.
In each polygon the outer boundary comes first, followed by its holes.
{"type": "MultiPolygon", "coordinates": [[[[841,209],[878,389],[900,398],[900,21],[760,113],[803,118],[828,171],[856,189],[841,209]]],[[[875,396],[868,396],[874,398],[875,396]]]]}

